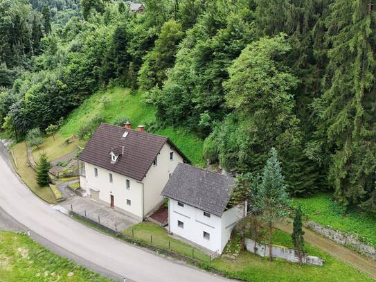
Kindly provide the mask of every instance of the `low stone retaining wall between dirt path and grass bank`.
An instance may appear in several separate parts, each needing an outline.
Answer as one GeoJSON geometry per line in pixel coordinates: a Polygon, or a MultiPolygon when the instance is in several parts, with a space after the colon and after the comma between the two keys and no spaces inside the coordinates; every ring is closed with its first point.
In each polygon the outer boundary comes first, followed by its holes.
{"type": "Polygon", "coordinates": [[[346,245],[351,249],[354,249],[355,251],[364,254],[365,256],[368,256],[369,258],[372,258],[376,261],[376,248],[371,245],[361,243],[359,239],[355,238],[355,236],[342,233],[340,231],[335,231],[330,227],[323,227],[321,224],[313,221],[308,222],[306,226],[316,233],[321,234],[325,238],[328,238],[341,245],[346,245]]]}

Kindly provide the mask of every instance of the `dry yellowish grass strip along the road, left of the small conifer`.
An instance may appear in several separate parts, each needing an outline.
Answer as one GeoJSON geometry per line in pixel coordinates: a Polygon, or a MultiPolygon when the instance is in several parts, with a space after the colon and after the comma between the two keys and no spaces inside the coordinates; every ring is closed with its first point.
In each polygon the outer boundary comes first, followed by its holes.
{"type": "Polygon", "coordinates": [[[35,171],[33,168],[28,166],[27,163],[26,144],[24,142],[18,143],[12,147],[12,150],[15,154],[18,165],[18,168],[15,169],[17,170],[17,173],[21,175],[22,180],[24,180],[28,188],[30,188],[31,191],[46,202],[56,204],[56,200],[51,189],[48,187],[40,188],[37,184],[37,180],[35,179],[35,171]]]}

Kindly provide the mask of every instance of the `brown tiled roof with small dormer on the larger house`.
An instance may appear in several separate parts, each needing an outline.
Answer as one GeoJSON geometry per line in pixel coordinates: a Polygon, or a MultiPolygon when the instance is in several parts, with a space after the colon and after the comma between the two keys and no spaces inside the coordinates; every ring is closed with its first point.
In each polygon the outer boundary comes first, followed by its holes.
{"type": "Polygon", "coordinates": [[[166,142],[189,162],[168,137],[102,123],[78,159],[141,181],[166,142]],[[128,134],[124,138],[125,132],[128,134]],[[124,155],[111,164],[111,150],[123,146],[124,155]]]}

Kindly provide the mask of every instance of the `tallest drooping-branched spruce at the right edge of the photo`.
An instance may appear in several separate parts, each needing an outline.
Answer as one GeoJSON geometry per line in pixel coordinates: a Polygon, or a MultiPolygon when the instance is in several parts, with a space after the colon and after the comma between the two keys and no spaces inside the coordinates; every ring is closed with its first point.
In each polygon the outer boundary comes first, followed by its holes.
{"type": "Polygon", "coordinates": [[[369,201],[376,179],[375,7],[374,0],[336,0],[330,7],[327,88],[314,103],[323,125],[319,136],[332,152],[334,195],[343,206],[368,212],[375,212],[369,201]]]}

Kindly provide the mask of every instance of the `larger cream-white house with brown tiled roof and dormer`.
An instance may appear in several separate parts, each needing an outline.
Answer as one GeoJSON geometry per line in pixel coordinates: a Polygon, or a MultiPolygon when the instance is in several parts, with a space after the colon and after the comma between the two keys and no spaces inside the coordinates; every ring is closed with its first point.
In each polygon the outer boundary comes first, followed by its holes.
{"type": "Polygon", "coordinates": [[[163,202],[177,164],[188,161],[165,136],[102,123],[80,157],[80,185],[92,200],[142,221],[163,202]]]}

